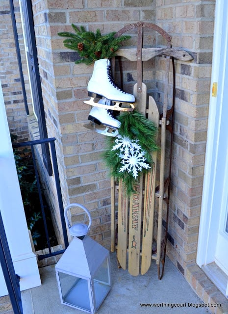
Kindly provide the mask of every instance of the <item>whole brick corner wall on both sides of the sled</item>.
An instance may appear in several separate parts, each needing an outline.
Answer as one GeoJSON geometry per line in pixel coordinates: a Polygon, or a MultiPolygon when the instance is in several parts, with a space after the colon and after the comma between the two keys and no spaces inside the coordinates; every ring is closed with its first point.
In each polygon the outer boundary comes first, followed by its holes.
{"type": "MultiPolygon", "coordinates": [[[[176,123],[170,200],[168,255],[184,274],[196,260],[207,131],[215,1],[33,1],[40,74],[49,136],[58,142],[65,205],[84,204],[93,217],[91,234],[110,242],[110,183],[101,158],[104,137],[84,127],[90,106],[87,84],[93,66],[76,65],[76,53],[63,46],[59,31],[71,23],[103,33],[139,20],[153,22],[172,36],[173,47],[188,50],[192,62],[175,61],[176,123]],[[47,6],[46,6],[47,5],[47,6]],[[142,6],[143,5],[143,6],[142,6]]],[[[157,38],[157,44],[163,44],[157,38]]],[[[151,64],[150,92],[162,103],[164,60],[151,64]],[[154,80],[155,78],[155,80],[154,80]]],[[[124,68],[132,92],[135,66],[124,68]]],[[[172,87],[172,86],[171,86],[172,87]]],[[[84,220],[77,209],[72,220],[84,220]]]]}

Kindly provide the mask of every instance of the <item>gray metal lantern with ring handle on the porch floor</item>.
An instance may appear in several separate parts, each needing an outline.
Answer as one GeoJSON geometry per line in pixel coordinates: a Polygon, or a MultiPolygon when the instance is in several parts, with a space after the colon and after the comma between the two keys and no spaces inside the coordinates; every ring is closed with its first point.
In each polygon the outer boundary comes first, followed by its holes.
{"type": "Polygon", "coordinates": [[[74,238],[55,265],[61,303],[94,314],[111,288],[109,251],[87,235],[92,223],[88,209],[74,203],[65,209],[64,216],[74,238]],[[71,226],[67,216],[71,207],[87,213],[88,226],[71,226]]]}

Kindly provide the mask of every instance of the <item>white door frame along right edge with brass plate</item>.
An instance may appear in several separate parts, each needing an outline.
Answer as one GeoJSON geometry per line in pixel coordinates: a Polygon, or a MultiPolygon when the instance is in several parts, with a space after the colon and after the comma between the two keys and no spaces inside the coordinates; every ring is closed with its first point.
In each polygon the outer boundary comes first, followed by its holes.
{"type": "Polygon", "coordinates": [[[200,267],[215,261],[219,217],[227,198],[227,192],[225,193],[224,190],[227,178],[225,169],[221,167],[222,164],[228,164],[228,136],[222,130],[224,119],[228,116],[227,88],[224,86],[224,76],[227,70],[223,62],[223,58],[225,59],[227,55],[227,34],[228,1],[216,0],[211,95],[197,250],[197,264],[200,267]],[[218,83],[216,97],[212,96],[213,82],[218,83]]]}

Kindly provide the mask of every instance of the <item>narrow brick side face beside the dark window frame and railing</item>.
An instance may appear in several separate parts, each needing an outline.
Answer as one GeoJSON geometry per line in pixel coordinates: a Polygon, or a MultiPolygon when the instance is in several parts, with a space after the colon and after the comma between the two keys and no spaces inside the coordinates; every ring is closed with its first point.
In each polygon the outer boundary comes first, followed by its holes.
{"type": "MultiPolygon", "coordinates": [[[[42,85],[42,96],[46,117],[46,126],[48,137],[55,137],[56,155],[59,165],[59,176],[62,188],[62,196],[64,203],[68,203],[68,192],[66,186],[66,176],[64,167],[64,157],[61,143],[61,131],[58,117],[58,108],[56,104],[56,89],[54,84],[54,71],[52,64],[50,27],[47,24],[47,2],[43,0],[32,1],[33,20],[36,38],[36,47],[39,62],[39,73],[42,85]]],[[[40,166],[40,176],[43,185],[45,186],[45,195],[49,202],[52,213],[52,222],[55,229],[55,234],[59,244],[63,244],[63,235],[60,222],[58,198],[55,188],[54,176],[49,176],[43,163],[38,158],[40,166]]]]}

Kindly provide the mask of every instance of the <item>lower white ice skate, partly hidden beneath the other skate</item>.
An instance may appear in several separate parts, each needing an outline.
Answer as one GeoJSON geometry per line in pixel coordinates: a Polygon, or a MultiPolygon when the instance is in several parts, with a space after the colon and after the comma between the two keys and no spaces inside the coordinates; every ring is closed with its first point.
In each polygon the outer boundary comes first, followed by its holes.
{"type": "MultiPolygon", "coordinates": [[[[102,98],[99,102],[99,104],[102,104],[104,106],[110,106],[110,101],[106,98],[102,98]]],[[[117,136],[118,135],[118,129],[121,125],[120,121],[115,119],[112,110],[110,109],[104,109],[97,106],[94,106],[89,113],[88,120],[95,123],[95,131],[107,136],[117,136]],[[102,130],[101,128],[98,128],[97,126],[103,125],[105,127],[105,130],[102,130]]]]}

